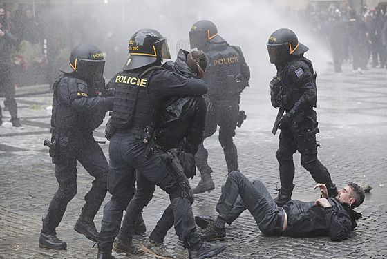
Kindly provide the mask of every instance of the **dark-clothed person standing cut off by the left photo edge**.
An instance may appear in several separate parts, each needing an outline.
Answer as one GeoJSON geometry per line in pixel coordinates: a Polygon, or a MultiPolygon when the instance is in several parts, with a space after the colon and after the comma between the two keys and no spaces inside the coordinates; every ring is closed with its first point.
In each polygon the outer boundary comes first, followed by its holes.
{"type": "MultiPolygon", "coordinates": [[[[0,6],[0,91],[6,98],[4,105],[10,111],[12,126],[21,127],[17,118],[17,104],[15,101],[15,82],[12,78],[11,52],[12,46],[17,46],[19,40],[15,37],[15,26],[6,19],[6,9],[0,6]],[[3,36],[1,36],[4,34],[3,36]]],[[[0,126],[3,124],[3,115],[0,107],[0,126]]]]}

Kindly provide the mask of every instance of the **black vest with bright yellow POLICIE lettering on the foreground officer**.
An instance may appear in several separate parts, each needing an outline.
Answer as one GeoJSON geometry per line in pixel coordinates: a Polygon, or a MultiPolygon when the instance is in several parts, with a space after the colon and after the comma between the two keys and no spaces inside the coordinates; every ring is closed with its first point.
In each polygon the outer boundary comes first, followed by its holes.
{"type": "Polygon", "coordinates": [[[148,84],[153,71],[139,73],[122,71],[115,75],[115,95],[111,124],[115,128],[145,128],[153,119],[153,104],[149,99],[148,84]]]}

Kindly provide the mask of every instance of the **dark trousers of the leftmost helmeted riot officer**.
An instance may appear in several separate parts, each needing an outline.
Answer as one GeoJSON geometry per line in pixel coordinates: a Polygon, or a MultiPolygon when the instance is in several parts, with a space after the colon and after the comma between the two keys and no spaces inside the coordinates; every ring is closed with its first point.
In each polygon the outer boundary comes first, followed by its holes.
{"type": "MultiPolygon", "coordinates": [[[[59,138],[59,144],[62,141],[59,138]]],[[[90,191],[84,197],[86,203],[82,208],[82,214],[93,220],[107,192],[108,162],[93,135],[70,137],[66,150],[62,151],[62,154],[64,157],[55,164],[55,177],[59,183],[59,189],[51,200],[48,213],[43,220],[45,233],[55,231],[63,218],[68,202],[77,194],[77,160],[95,178],[90,191]]]]}

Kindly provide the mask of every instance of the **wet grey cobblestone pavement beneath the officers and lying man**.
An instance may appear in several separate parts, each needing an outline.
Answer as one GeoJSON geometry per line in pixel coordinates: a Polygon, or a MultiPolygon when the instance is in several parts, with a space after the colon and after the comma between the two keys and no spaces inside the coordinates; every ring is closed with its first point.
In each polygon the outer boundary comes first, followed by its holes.
{"type": "MultiPolygon", "coordinates": [[[[350,66],[347,70],[350,70],[350,66]]],[[[270,191],[279,186],[278,165],[275,158],[278,136],[270,133],[276,110],[271,108],[268,81],[270,76],[258,75],[252,87],[245,90],[241,108],[247,121],[238,128],[240,171],[251,180],[262,180],[270,191]]],[[[253,75],[254,78],[254,75],[253,75]]],[[[348,240],[332,242],[329,238],[266,237],[256,227],[248,211],[231,226],[227,226],[227,249],[216,258],[387,258],[386,200],[387,200],[387,76],[386,70],[372,69],[364,74],[351,72],[334,74],[331,70],[317,78],[319,100],[317,135],[319,159],[328,167],[337,186],[349,180],[370,184],[373,189],[357,209],[363,214],[358,227],[348,240]],[[384,186],[386,184],[386,186],[384,186]]],[[[94,243],[73,230],[84,203],[84,195],[92,178],[79,166],[78,193],[68,204],[64,218],[57,228],[58,237],[66,241],[66,251],[38,247],[41,218],[57,190],[54,165],[50,163],[48,148],[43,140],[50,137],[50,106],[52,94],[18,97],[19,117],[23,128],[9,123],[0,127],[0,258],[96,258],[94,243]]],[[[3,99],[0,99],[3,106],[3,99]]],[[[4,121],[9,120],[3,111],[4,121]]],[[[104,140],[103,127],[95,132],[104,140]]],[[[101,144],[108,156],[108,143],[101,144]]],[[[214,169],[216,189],[196,195],[195,215],[215,215],[214,207],[220,197],[227,169],[217,135],[205,140],[209,163],[214,169]]],[[[296,188],[294,199],[314,200],[314,182],[295,155],[296,188]]],[[[196,186],[199,177],[191,181],[196,186]]],[[[104,204],[110,198],[106,195],[104,204]]],[[[135,236],[142,242],[167,207],[169,199],[156,189],[155,196],[144,209],[147,224],[145,236],[135,236]]],[[[95,217],[97,228],[102,220],[102,207],[95,217]]],[[[200,231],[200,229],[199,229],[200,231]]],[[[188,258],[173,229],[165,239],[167,249],[176,258],[188,258]]],[[[115,254],[116,258],[126,256],[115,254]]],[[[138,256],[137,258],[151,258],[138,256]]]]}

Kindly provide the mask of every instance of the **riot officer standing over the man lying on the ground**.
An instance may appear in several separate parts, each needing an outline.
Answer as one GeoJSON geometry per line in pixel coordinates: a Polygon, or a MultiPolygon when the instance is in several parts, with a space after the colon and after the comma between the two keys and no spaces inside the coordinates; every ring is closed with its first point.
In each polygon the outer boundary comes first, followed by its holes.
{"type": "Polygon", "coordinates": [[[335,197],[337,188],[330,173],[317,159],[316,73],[312,62],[303,57],[309,48],[299,42],[292,30],[281,28],[270,35],[267,50],[270,63],[277,69],[277,75],[270,82],[272,106],[279,108],[272,133],[275,135],[281,129],[276,151],[281,189],[274,200],[281,207],[292,197],[296,151],[301,153],[301,165],[312,178],[325,184],[329,196],[335,197]]]}

